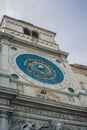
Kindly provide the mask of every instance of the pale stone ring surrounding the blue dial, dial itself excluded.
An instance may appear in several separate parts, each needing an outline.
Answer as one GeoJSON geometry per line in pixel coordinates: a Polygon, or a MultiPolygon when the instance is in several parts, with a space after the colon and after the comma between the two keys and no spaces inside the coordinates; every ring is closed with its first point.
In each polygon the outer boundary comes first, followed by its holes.
{"type": "MultiPolygon", "coordinates": [[[[50,88],[50,89],[53,89],[53,90],[55,90],[55,89],[57,89],[57,90],[62,90],[62,89],[66,88],[66,87],[69,85],[70,81],[69,81],[68,73],[65,71],[65,69],[64,69],[64,67],[63,67],[63,65],[62,65],[62,63],[61,63],[61,64],[58,64],[58,63],[56,62],[56,59],[55,59],[55,58],[54,58],[54,59],[51,59],[51,58],[49,58],[48,56],[46,57],[48,60],[52,61],[52,63],[54,63],[56,66],[58,66],[58,68],[62,71],[62,73],[63,73],[63,75],[64,75],[64,79],[63,79],[62,82],[57,83],[57,84],[48,84],[48,83],[44,83],[44,82],[39,82],[38,80],[35,80],[34,78],[32,78],[32,77],[26,75],[26,74],[18,67],[18,65],[16,64],[16,58],[17,58],[19,55],[26,54],[25,51],[19,50],[19,52],[14,52],[14,51],[10,50],[10,53],[11,53],[11,55],[9,55],[9,64],[10,64],[11,68],[9,68],[9,69],[11,69],[11,71],[13,70],[12,73],[16,73],[16,74],[18,74],[18,75],[20,76],[18,80],[20,80],[20,81],[22,81],[22,82],[25,82],[25,83],[27,83],[28,85],[30,84],[30,85],[32,85],[32,86],[41,87],[41,88],[42,88],[42,87],[46,87],[46,88],[50,88]],[[23,79],[22,79],[22,78],[23,78],[23,79]]],[[[28,52],[27,52],[27,54],[28,54],[28,52]]],[[[34,54],[34,55],[35,55],[36,52],[33,51],[33,53],[29,53],[29,54],[34,54]]],[[[43,57],[43,56],[42,56],[42,57],[43,57]]],[[[11,74],[12,74],[12,73],[11,73],[11,74]]]]}

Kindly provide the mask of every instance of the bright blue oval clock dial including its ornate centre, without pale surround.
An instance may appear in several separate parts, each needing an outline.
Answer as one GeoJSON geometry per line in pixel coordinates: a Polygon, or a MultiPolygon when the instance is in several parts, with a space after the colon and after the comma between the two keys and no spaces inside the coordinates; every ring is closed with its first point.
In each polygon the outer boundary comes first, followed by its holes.
{"type": "Polygon", "coordinates": [[[51,61],[33,54],[16,58],[17,66],[28,76],[43,83],[57,84],[64,79],[62,71],[51,61]]]}

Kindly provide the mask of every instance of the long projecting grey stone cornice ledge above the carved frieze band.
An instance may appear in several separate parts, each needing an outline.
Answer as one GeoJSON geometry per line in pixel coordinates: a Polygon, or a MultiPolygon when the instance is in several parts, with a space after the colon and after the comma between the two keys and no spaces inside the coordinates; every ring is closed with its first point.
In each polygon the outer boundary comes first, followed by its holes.
{"type": "MultiPolygon", "coordinates": [[[[13,103],[19,102],[18,104],[23,105],[23,103],[25,104],[25,106],[31,106],[31,107],[37,107],[38,109],[41,107],[42,109],[50,109],[53,110],[54,109],[57,111],[76,111],[76,113],[79,112],[84,112],[87,113],[87,108],[86,107],[80,107],[80,106],[75,106],[75,105],[69,105],[69,104],[65,104],[65,103],[58,103],[58,102],[52,102],[52,101],[46,101],[43,99],[39,99],[39,98],[33,98],[33,97],[29,97],[29,96],[25,96],[25,95],[18,95],[16,97],[16,100],[13,100],[13,103]]],[[[75,112],[74,112],[75,114],[75,112]]]]}

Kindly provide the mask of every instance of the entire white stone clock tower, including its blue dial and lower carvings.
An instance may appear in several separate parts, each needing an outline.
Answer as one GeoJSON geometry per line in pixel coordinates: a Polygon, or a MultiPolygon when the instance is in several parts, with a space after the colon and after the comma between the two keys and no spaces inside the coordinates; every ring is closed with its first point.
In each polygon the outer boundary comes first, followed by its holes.
{"type": "Polygon", "coordinates": [[[56,34],[8,16],[0,31],[0,130],[86,130],[84,92],[56,34]]]}

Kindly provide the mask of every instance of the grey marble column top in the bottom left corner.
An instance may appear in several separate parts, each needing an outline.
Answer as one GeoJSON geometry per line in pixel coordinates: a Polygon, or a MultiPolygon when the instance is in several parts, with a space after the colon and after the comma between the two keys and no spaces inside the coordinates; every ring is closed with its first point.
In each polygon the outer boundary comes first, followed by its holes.
{"type": "Polygon", "coordinates": [[[8,112],[0,111],[0,130],[8,130],[8,112]]]}

